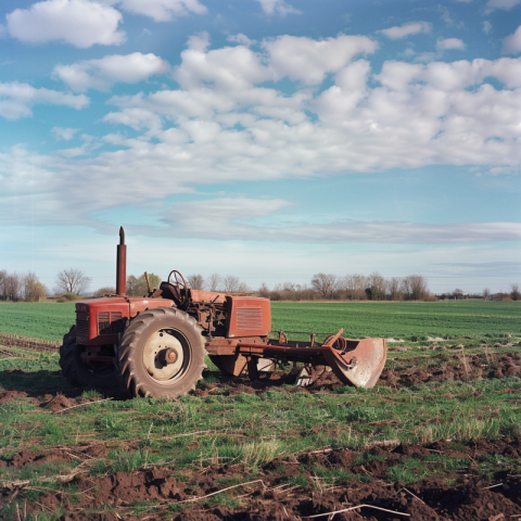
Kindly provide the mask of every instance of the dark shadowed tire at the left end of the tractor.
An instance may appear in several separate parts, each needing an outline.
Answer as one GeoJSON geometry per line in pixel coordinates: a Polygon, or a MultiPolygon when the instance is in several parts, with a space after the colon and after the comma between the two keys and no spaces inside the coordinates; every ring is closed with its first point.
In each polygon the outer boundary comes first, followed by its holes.
{"type": "Polygon", "coordinates": [[[90,369],[81,360],[81,346],[76,343],[76,326],[63,336],[60,347],[60,367],[63,376],[75,387],[111,389],[117,386],[116,369],[105,367],[100,371],[90,369]]]}

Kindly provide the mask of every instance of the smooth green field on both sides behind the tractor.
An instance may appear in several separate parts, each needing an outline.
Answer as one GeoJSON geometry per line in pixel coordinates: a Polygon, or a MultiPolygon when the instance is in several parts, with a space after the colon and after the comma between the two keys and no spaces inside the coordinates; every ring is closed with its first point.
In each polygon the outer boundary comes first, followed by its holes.
{"type": "MultiPolygon", "coordinates": [[[[301,333],[383,336],[422,341],[428,336],[500,338],[521,333],[518,302],[272,303],[272,329],[301,333]]],[[[74,323],[74,303],[2,303],[0,332],[60,341],[74,323]]]]}

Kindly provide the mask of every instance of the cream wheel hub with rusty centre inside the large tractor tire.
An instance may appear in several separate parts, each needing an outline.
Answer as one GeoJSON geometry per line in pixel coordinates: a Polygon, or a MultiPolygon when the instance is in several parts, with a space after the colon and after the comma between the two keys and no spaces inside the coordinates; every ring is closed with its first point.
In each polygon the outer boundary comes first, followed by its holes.
{"type": "Polygon", "coordinates": [[[171,380],[182,369],[185,354],[181,343],[166,331],[153,333],[143,350],[143,365],[155,380],[171,380]]]}

